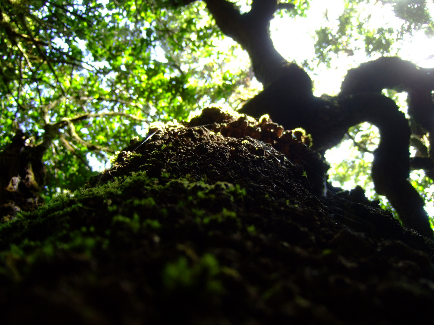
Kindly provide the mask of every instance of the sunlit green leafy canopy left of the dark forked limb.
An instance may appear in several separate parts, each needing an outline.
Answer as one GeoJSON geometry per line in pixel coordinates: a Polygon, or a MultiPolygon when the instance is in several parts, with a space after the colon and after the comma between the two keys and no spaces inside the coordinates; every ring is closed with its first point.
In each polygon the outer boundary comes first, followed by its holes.
{"type": "Polygon", "coordinates": [[[0,13],[0,146],[21,129],[47,147],[47,197],[82,186],[89,158],[106,164],[149,123],[249,88],[242,65],[224,68],[238,47],[217,49],[203,3],[5,0],[0,13]]]}

